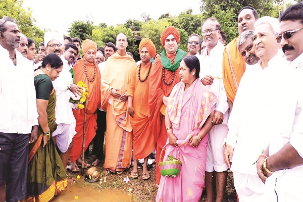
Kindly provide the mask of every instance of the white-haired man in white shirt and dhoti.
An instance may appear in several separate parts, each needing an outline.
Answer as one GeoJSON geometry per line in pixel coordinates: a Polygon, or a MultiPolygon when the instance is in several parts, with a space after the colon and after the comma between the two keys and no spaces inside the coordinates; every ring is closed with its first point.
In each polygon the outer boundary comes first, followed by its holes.
{"type": "Polygon", "coordinates": [[[286,102],[288,96],[284,94],[289,91],[285,90],[288,85],[281,82],[289,69],[278,52],[278,20],[266,16],[254,26],[254,48],[260,61],[248,68],[241,78],[225,138],[225,161],[228,167],[232,163],[239,201],[264,201],[265,186],[255,164],[279,127],[275,120],[281,116],[277,112],[284,110],[280,104],[286,102]]]}

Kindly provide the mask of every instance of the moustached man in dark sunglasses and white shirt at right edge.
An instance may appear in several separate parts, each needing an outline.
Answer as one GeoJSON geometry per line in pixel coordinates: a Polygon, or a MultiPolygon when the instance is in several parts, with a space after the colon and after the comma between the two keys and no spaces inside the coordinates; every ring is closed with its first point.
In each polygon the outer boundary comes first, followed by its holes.
{"type": "MultiPolygon", "coordinates": [[[[277,37],[289,66],[295,76],[288,77],[298,87],[283,103],[276,126],[281,130],[270,139],[269,147],[258,160],[257,171],[265,182],[264,201],[302,201],[303,192],[303,113],[302,105],[302,66],[303,66],[303,4],[287,8],[279,18],[281,32],[277,37]],[[293,98],[294,102],[289,103],[293,98]],[[281,120],[282,119],[282,120],[281,120]],[[281,120],[279,122],[279,120],[281,120]]],[[[283,93],[283,97],[287,94],[283,93]]]]}

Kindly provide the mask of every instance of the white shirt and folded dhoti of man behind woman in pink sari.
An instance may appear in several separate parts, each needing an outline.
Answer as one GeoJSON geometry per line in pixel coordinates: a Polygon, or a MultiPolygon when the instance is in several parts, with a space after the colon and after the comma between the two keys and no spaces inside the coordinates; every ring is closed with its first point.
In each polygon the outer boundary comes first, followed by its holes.
{"type": "Polygon", "coordinates": [[[223,141],[227,136],[229,106],[227,103],[226,91],[222,79],[222,62],[223,62],[224,45],[220,42],[211,49],[210,54],[207,55],[207,47],[200,57],[200,74],[199,77],[203,78],[206,75],[214,77],[214,83],[209,87],[219,98],[216,104],[216,111],[223,114],[223,122],[220,125],[213,126],[208,136],[208,149],[207,149],[207,172],[222,172],[228,169],[224,162],[224,147],[223,141]]]}

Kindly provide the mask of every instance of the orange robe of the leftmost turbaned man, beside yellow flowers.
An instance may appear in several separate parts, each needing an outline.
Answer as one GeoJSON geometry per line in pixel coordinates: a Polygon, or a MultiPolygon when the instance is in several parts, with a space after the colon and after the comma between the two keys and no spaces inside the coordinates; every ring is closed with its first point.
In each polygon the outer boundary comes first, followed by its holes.
{"type": "MultiPolygon", "coordinates": [[[[78,81],[83,81],[83,83],[88,87],[88,97],[87,97],[87,114],[86,114],[86,128],[85,128],[85,149],[87,149],[89,143],[96,134],[97,129],[97,114],[95,113],[100,106],[100,80],[101,74],[98,66],[95,63],[95,68],[92,63],[85,60],[87,75],[89,79],[93,78],[94,69],[96,69],[96,75],[93,82],[89,82],[86,78],[84,71],[84,61],[85,59],[78,60],[74,66],[75,73],[75,84],[78,81]]],[[[83,110],[73,110],[76,119],[76,132],[77,134],[73,137],[73,147],[70,153],[70,161],[75,162],[82,154],[82,142],[83,142],[83,126],[84,126],[84,109],[83,110]]]]}

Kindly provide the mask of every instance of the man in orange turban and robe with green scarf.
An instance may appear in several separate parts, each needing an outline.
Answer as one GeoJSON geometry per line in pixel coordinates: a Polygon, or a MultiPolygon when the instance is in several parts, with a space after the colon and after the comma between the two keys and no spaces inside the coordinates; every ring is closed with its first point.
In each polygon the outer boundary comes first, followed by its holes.
{"type": "MultiPolygon", "coordinates": [[[[161,150],[167,140],[164,122],[167,100],[174,85],[180,82],[179,66],[186,55],[186,52],[178,47],[180,33],[174,26],[164,29],[161,34],[161,42],[165,49],[161,53],[160,59],[156,59],[153,67],[151,67],[148,97],[150,129],[156,136],[157,165],[159,164],[161,150]]],[[[156,166],[157,187],[160,178],[160,169],[156,166]]]]}

